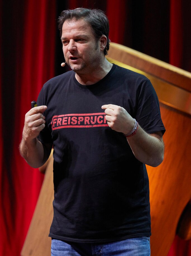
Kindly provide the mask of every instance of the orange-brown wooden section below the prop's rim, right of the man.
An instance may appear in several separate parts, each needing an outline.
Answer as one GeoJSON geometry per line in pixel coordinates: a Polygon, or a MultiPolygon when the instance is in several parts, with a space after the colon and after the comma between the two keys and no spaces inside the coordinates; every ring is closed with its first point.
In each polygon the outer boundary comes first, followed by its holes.
{"type": "Polygon", "coordinates": [[[191,118],[161,105],[164,134],[164,161],[147,166],[150,183],[151,252],[167,255],[180,216],[191,198],[191,118]]]}

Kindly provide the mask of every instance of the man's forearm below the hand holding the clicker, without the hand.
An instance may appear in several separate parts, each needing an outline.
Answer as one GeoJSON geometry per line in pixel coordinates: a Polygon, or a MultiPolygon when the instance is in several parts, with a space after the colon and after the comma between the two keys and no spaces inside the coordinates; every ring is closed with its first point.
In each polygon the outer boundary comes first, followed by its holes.
{"type": "Polygon", "coordinates": [[[23,138],[19,146],[20,154],[33,168],[42,166],[48,159],[48,153],[44,150],[43,144],[34,139],[23,138]]]}

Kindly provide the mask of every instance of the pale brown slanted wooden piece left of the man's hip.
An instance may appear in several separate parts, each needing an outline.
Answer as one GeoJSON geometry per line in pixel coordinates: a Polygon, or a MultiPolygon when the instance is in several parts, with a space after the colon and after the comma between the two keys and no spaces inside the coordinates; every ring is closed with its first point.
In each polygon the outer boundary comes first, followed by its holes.
{"type": "Polygon", "coordinates": [[[51,238],[48,234],[53,219],[53,199],[53,157],[51,154],[21,256],[51,256],[51,238]]]}

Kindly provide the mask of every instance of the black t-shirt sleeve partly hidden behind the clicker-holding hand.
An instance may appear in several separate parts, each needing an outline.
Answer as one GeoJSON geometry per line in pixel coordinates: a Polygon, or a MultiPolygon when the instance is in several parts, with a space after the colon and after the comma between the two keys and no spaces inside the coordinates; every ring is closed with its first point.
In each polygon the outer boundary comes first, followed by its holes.
{"type": "MultiPolygon", "coordinates": [[[[44,95],[44,87],[41,89],[41,91],[39,93],[39,96],[38,96],[38,99],[37,99],[37,105],[38,106],[47,105],[46,104],[46,98],[45,98],[45,95],[44,95]]],[[[43,115],[45,116],[45,121],[46,121],[46,112],[47,111],[48,111],[48,109],[45,110],[45,112],[43,113],[43,115]]],[[[47,123],[45,123],[44,129],[40,132],[40,134],[37,138],[43,144],[44,143],[53,143],[52,136],[51,136],[51,131],[49,130],[47,123]]]]}

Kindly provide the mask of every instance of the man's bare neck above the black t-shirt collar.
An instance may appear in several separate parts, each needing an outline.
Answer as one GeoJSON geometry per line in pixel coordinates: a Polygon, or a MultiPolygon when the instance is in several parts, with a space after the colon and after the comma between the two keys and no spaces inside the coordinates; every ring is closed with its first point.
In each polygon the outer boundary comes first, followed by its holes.
{"type": "Polygon", "coordinates": [[[98,67],[96,68],[93,67],[93,70],[89,71],[88,74],[77,72],[75,77],[77,81],[82,85],[92,85],[104,78],[111,70],[112,65],[113,64],[111,64],[109,61],[106,60],[106,58],[104,58],[103,63],[98,65],[98,67]]]}

